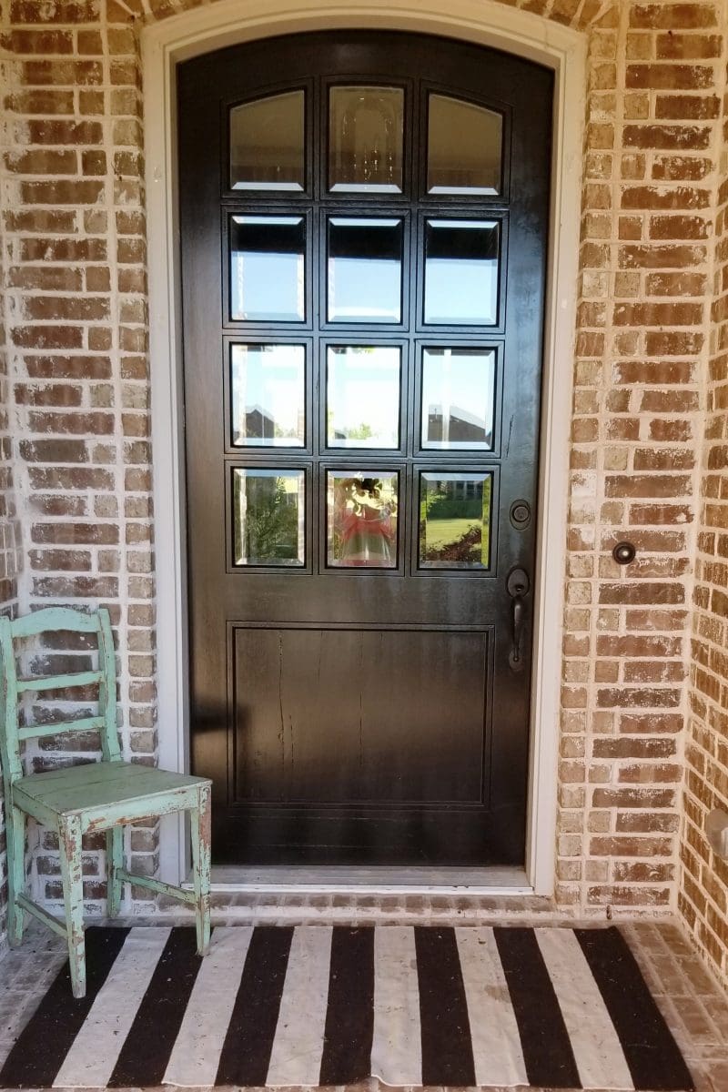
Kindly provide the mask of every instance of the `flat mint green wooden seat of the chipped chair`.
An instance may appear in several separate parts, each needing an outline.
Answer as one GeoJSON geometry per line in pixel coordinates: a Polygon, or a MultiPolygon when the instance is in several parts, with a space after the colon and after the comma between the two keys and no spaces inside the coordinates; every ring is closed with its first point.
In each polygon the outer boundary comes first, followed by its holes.
{"type": "Polygon", "coordinates": [[[171,773],[135,762],[87,762],[64,767],[48,773],[20,778],[12,786],[17,807],[35,814],[33,804],[58,816],[84,815],[94,819],[111,806],[132,809],[148,800],[151,810],[162,797],[186,797],[184,790],[194,793],[206,778],[171,773]],[[25,807],[27,803],[28,807],[25,807]]]}

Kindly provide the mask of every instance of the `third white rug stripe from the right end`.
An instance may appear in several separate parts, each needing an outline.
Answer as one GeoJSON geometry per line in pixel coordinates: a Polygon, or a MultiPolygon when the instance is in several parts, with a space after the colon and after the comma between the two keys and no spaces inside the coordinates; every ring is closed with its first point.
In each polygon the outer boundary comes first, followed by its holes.
{"type": "Polygon", "coordinates": [[[417,953],[407,925],[374,930],[371,1076],[383,1084],[422,1083],[417,953]]]}

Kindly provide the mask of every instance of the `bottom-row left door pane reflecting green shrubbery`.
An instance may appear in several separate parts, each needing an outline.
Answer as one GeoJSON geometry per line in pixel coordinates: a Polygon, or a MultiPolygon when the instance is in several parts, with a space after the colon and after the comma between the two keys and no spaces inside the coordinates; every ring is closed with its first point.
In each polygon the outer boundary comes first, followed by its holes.
{"type": "Polygon", "coordinates": [[[232,471],[235,565],[301,566],[306,560],[303,471],[232,471]]]}

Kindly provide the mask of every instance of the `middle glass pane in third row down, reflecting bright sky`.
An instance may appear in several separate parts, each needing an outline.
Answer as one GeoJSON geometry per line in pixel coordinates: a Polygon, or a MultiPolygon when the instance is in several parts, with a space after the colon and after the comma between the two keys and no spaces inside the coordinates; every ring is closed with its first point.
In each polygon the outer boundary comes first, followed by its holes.
{"type": "Polygon", "coordinates": [[[326,447],[399,447],[401,357],[396,346],[329,346],[326,447]]]}

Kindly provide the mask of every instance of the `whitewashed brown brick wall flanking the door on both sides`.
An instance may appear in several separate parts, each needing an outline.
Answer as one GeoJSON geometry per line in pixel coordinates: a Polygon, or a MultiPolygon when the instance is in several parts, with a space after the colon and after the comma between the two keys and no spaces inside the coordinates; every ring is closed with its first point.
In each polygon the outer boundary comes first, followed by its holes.
{"type": "MultiPolygon", "coordinates": [[[[667,912],[677,898],[723,3],[517,5],[589,38],[557,899],[574,914],[667,912]],[[610,557],[623,537],[639,549],[628,569],[610,557]]],[[[3,9],[27,605],[112,606],[124,749],[144,761],[156,738],[138,43],[145,22],[194,7],[3,9]]],[[[51,745],[43,760],[83,752],[51,745]]],[[[153,832],[135,839],[141,864],[154,867],[153,832]]],[[[44,840],[36,859],[49,897],[52,851],[44,840]]],[[[103,891],[94,850],[88,864],[93,902],[103,891]]]]}

